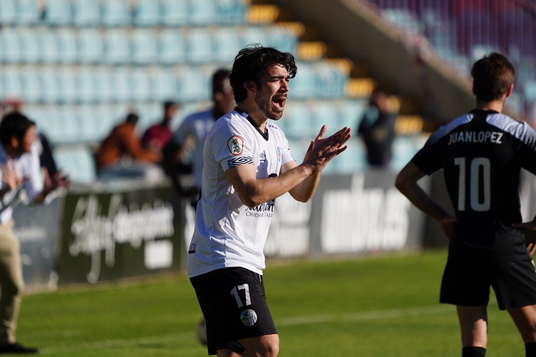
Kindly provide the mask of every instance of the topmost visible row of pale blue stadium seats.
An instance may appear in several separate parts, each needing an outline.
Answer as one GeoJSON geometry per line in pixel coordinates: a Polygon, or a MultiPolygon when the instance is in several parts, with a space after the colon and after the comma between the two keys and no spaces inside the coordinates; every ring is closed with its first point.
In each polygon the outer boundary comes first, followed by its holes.
{"type": "Polygon", "coordinates": [[[39,0],[0,1],[0,24],[54,26],[177,26],[242,24],[245,0],[39,0]]]}

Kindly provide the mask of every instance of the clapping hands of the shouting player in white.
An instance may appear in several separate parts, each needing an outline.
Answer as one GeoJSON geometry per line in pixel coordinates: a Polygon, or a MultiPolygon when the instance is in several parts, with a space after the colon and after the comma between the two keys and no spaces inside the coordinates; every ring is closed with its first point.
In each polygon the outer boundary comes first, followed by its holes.
{"type": "Polygon", "coordinates": [[[312,166],[313,173],[321,171],[333,157],[346,150],[348,147],[344,145],[352,137],[349,127],[344,127],[333,135],[324,138],[326,130],[327,126],[323,125],[318,136],[314,141],[311,141],[303,159],[304,164],[312,166]]]}

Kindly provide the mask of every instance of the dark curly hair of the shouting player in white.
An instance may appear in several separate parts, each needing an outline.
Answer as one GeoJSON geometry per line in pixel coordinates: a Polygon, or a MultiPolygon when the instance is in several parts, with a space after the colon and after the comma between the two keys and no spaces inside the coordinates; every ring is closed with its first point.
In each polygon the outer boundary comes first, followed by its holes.
{"type": "Polygon", "coordinates": [[[273,47],[263,47],[259,43],[250,44],[238,52],[229,75],[236,103],[247,98],[244,83],[255,82],[260,85],[260,78],[272,65],[282,65],[288,71],[288,77],[294,78],[297,72],[294,56],[273,47]]]}

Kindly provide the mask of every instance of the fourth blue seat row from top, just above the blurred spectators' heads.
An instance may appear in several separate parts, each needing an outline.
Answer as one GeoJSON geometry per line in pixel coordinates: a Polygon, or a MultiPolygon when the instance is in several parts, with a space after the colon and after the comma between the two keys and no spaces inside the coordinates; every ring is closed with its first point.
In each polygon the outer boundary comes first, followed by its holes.
{"type": "MultiPolygon", "coordinates": [[[[199,103],[183,105],[173,121],[173,128],[178,127],[183,118],[193,111],[208,107],[199,103]]],[[[293,100],[285,108],[284,116],[277,125],[286,133],[289,140],[306,141],[314,138],[322,125],[328,131],[335,131],[344,126],[356,130],[366,100],[293,100]]],[[[121,123],[130,111],[138,113],[139,133],[157,123],[162,117],[162,105],[159,103],[143,104],[93,104],[93,105],[42,105],[27,104],[25,112],[35,121],[38,130],[47,135],[50,142],[57,145],[73,143],[95,143],[101,141],[118,123],[121,123]]]]}

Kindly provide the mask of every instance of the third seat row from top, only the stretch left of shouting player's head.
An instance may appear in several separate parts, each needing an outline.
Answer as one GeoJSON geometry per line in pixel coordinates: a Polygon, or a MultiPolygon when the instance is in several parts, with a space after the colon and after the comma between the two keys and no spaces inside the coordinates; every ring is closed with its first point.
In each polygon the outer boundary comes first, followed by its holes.
{"type": "Polygon", "coordinates": [[[4,66],[0,97],[50,104],[206,100],[213,68],[4,66]]]}

